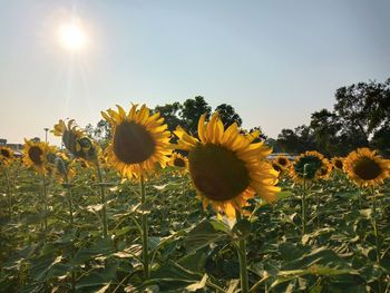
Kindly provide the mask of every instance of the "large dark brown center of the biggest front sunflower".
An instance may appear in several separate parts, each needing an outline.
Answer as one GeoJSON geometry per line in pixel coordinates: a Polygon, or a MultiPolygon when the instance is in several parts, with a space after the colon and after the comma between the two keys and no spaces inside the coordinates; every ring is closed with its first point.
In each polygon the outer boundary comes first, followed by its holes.
{"type": "Polygon", "coordinates": [[[189,153],[189,174],[196,188],[213,201],[228,201],[250,185],[245,163],[222,146],[198,144],[189,153]]]}

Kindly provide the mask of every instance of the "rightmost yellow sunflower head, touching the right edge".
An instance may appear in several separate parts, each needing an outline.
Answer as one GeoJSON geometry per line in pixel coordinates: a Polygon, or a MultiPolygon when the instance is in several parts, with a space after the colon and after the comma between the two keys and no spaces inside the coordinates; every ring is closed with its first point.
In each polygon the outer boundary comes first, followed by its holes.
{"type": "Polygon", "coordinates": [[[344,172],[361,187],[376,186],[383,184],[383,179],[390,176],[390,160],[369,148],[358,148],[345,158],[344,172]]]}

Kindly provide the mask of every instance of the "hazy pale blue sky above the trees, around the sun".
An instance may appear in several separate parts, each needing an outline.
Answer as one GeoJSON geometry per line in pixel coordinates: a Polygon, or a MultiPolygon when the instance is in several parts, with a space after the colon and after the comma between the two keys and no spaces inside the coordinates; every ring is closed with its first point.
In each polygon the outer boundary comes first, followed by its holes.
{"type": "MultiPolygon", "coordinates": [[[[0,138],[95,125],[116,104],[204,96],[271,137],[331,109],[334,91],[390,77],[388,0],[0,0],[0,138]],[[59,28],[77,20],[87,45],[59,28]]],[[[49,134],[49,141],[59,139],[49,134]]]]}

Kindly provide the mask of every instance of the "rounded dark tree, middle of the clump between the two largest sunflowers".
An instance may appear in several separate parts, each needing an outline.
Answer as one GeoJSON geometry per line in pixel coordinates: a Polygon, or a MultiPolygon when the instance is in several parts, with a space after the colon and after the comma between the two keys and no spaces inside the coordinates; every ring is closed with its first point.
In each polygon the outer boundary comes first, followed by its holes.
{"type": "Polygon", "coordinates": [[[197,133],[197,123],[203,114],[206,114],[206,118],[209,117],[212,108],[201,96],[195,97],[194,99],[187,99],[183,104],[182,109],[182,120],[183,127],[195,135],[197,133]]]}

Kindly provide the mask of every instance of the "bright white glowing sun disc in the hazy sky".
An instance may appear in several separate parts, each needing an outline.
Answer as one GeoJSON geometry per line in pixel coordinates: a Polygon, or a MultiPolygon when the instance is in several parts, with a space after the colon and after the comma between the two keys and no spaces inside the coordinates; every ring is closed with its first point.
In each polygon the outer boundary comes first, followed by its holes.
{"type": "Polygon", "coordinates": [[[59,40],[64,48],[70,51],[80,51],[87,45],[87,35],[76,23],[64,23],[59,28],[59,40]]]}

